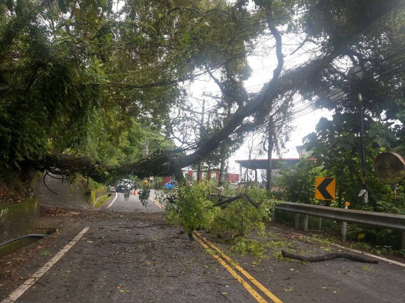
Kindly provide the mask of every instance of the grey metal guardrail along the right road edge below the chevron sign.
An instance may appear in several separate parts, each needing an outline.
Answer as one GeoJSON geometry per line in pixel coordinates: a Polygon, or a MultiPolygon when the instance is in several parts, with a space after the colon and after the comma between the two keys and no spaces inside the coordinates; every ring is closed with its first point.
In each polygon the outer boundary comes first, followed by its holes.
{"type": "Polygon", "coordinates": [[[310,215],[342,222],[370,225],[380,228],[405,231],[405,216],[378,212],[338,209],[303,203],[283,202],[276,205],[276,210],[310,215]]]}

